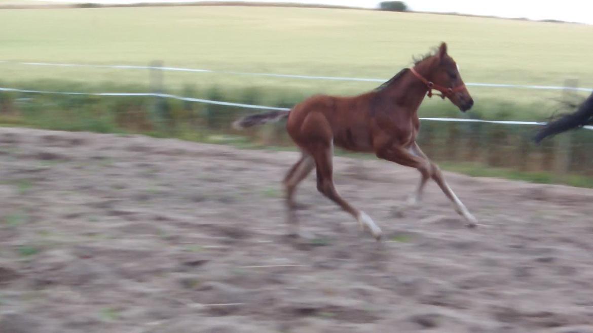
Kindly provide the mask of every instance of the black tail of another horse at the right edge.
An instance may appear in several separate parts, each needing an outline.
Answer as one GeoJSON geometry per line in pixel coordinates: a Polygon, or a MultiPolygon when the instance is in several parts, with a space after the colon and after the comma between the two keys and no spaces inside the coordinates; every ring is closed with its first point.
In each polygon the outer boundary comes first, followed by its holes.
{"type": "Polygon", "coordinates": [[[535,143],[540,143],[547,136],[556,135],[571,129],[576,129],[593,122],[593,94],[591,94],[574,113],[565,114],[557,120],[550,121],[539,130],[535,136],[535,143]]]}

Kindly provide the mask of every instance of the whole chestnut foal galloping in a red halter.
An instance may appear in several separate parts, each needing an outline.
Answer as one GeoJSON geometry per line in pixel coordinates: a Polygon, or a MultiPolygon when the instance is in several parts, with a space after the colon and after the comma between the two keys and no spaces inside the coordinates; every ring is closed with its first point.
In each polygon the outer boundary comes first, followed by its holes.
{"type": "Polygon", "coordinates": [[[302,156],[292,166],[283,184],[291,233],[298,234],[294,193],[299,182],[315,167],[317,189],[358,220],[361,228],[381,238],[381,229],[371,217],[356,209],[337,193],[332,178],[334,145],[356,152],[374,152],[378,158],[396,162],[420,171],[420,182],[407,204],[420,201],[429,178],[439,185],[452,201],[468,226],[476,226],[476,218],[455,196],[436,164],[416,144],[420,129],[417,110],[425,95],[441,92],[461,111],[471,108],[472,100],[461,79],[458,67],[442,43],[434,55],[403,69],[396,76],[371,92],[355,97],[315,95],[295,105],[290,111],[273,111],[244,117],[234,123],[236,129],[288,118],[286,130],[299,146],[302,156]]]}

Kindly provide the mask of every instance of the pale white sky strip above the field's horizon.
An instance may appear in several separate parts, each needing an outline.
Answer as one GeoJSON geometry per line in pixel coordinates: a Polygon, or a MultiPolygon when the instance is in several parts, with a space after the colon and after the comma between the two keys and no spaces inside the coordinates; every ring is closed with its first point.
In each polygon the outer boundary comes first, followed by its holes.
{"type": "MultiPolygon", "coordinates": [[[[98,2],[125,4],[130,2],[195,2],[196,0],[49,0],[58,2],[98,2]]],[[[240,0],[242,1],[242,0],[240,0]]],[[[247,1],[247,0],[245,0],[247,1]]],[[[304,4],[347,5],[376,8],[377,0],[254,0],[257,2],[300,2],[304,4]]],[[[458,12],[460,14],[526,17],[531,20],[563,20],[593,24],[592,0],[405,0],[413,11],[458,12]]],[[[591,36],[593,40],[593,36],[591,36]]]]}

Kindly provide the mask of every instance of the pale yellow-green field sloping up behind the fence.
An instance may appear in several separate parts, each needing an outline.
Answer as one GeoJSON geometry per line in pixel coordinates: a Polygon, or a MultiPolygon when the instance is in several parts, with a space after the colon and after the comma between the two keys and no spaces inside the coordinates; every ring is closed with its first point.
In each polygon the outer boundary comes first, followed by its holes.
{"type": "MultiPolygon", "coordinates": [[[[147,65],[224,71],[354,76],[388,79],[413,55],[447,41],[466,82],[593,87],[593,26],[493,18],[350,9],[273,7],[164,7],[1,10],[0,60],[147,65]]],[[[116,89],[148,87],[148,72],[55,68],[0,63],[8,87],[116,89]]],[[[181,92],[217,86],[306,97],[318,92],[357,94],[375,82],[268,78],[221,73],[166,72],[165,85],[181,92]]],[[[489,104],[506,103],[507,119],[551,113],[560,91],[470,89],[483,117],[500,116],[489,104]]],[[[586,95],[581,93],[581,95],[586,95]]],[[[429,101],[431,105],[446,105],[429,101]]],[[[454,107],[442,107],[442,113],[454,107]]],[[[439,111],[441,112],[441,111],[439,111]]],[[[434,114],[431,114],[434,115],[434,114]]]]}

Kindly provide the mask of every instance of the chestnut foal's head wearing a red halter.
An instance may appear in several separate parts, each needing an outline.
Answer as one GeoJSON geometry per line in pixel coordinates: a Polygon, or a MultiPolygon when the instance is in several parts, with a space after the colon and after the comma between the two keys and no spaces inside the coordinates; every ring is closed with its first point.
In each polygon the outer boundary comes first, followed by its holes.
{"type": "Polygon", "coordinates": [[[426,79],[432,82],[432,89],[441,91],[461,111],[470,110],[474,105],[474,100],[461,79],[457,63],[447,54],[447,44],[442,43],[435,55],[417,63],[416,68],[427,73],[426,79]]]}

